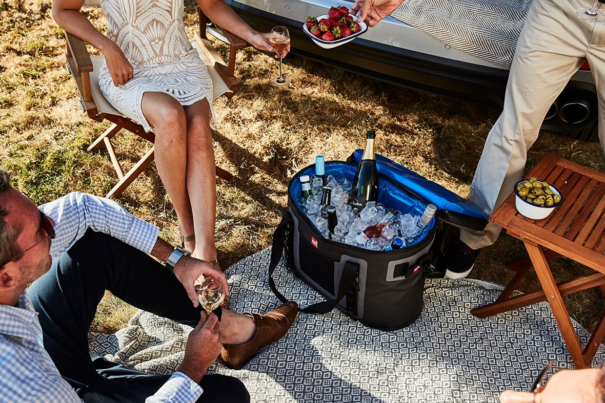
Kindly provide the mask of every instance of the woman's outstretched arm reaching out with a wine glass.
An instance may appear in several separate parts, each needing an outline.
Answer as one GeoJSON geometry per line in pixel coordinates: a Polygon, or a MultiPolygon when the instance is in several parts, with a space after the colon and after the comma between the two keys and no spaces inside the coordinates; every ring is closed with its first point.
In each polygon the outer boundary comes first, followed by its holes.
{"type": "MultiPolygon", "coordinates": [[[[197,4],[210,21],[214,21],[220,27],[226,28],[257,49],[275,52],[269,41],[270,34],[253,30],[223,0],[197,0],[197,4]]],[[[287,46],[282,57],[285,57],[289,51],[290,45],[287,46]]],[[[278,57],[278,55],[275,55],[275,57],[278,57]]]]}

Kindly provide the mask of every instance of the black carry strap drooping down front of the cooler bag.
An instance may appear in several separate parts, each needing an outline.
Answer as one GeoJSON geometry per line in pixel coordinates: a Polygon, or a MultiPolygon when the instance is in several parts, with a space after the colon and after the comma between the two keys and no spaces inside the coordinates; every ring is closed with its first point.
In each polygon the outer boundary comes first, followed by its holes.
{"type": "MultiPolygon", "coordinates": [[[[273,272],[280,263],[281,257],[284,254],[284,243],[282,237],[286,227],[290,222],[293,222],[292,215],[286,211],[284,217],[281,219],[280,225],[275,228],[273,232],[273,245],[271,247],[271,262],[269,263],[269,286],[273,293],[280,299],[280,301],[286,303],[288,300],[281,292],[277,291],[275,282],[273,282],[273,272]]],[[[300,309],[302,312],[307,314],[327,314],[332,311],[338,305],[339,301],[347,295],[347,292],[355,286],[355,279],[357,278],[357,272],[359,271],[359,264],[354,262],[347,262],[342,269],[342,275],[338,283],[338,292],[336,292],[336,298],[333,300],[326,300],[307,306],[307,308],[300,309]]]]}

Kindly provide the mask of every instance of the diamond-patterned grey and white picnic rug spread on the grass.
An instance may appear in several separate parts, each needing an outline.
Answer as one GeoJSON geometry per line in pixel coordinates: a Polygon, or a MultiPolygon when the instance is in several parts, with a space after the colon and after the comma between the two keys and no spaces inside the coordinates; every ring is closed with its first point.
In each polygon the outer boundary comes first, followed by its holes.
{"type": "MultiPolygon", "coordinates": [[[[270,250],[227,270],[229,308],[267,312],[280,302],[267,285],[270,250]]],[[[278,289],[302,306],[321,299],[283,262],[278,289]]],[[[289,332],[240,370],[220,359],[210,372],[235,376],[253,402],[497,402],[502,390],[528,390],[549,360],[572,368],[548,304],[479,319],[470,310],[495,300],[499,285],[427,280],[424,308],[411,326],[365,327],[335,309],[299,313],[289,332]]],[[[583,343],[589,334],[574,323],[583,343]]],[[[190,327],[137,312],[113,335],[91,334],[91,353],[148,373],[171,373],[190,327]]],[[[603,346],[594,366],[603,361],[603,346]]]]}

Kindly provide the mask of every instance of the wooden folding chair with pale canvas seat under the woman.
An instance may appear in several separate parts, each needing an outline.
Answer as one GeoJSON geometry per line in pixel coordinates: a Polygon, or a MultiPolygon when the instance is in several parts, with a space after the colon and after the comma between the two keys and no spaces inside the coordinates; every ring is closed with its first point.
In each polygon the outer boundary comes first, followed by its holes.
{"type": "MultiPolygon", "coordinates": [[[[87,0],[84,6],[98,7],[99,2],[98,0],[87,0]]],[[[240,88],[240,83],[235,77],[235,53],[247,47],[248,44],[240,37],[221,28],[224,36],[229,40],[231,47],[229,50],[229,62],[228,64],[225,63],[220,54],[212,46],[212,43],[206,39],[207,18],[199,7],[198,16],[200,29],[198,33],[195,33],[194,40],[191,43],[198,50],[198,53],[200,53],[201,60],[208,67],[208,72],[212,77],[214,87],[213,99],[220,97],[220,95],[231,98],[240,88]]],[[[151,143],[154,143],[155,135],[145,132],[139,123],[123,116],[103,97],[99,88],[99,69],[103,65],[103,57],[90,56],[83,40],[70,33],[65,32],[65,40],[67,41],[67,48],[65,50],[66,66],[80,91],[82,110],[93,120],[101,122],[103,119],[106,119],[113,123],[109,129],[93,141],[88,150],[95,151],[99,147],[105,146],[119,179],[113,189],[107,193],[106,197],[119,196],[154,160],[154,146],[128,172],[124,173],[122,164],[120,164],[114,146],[111,143],[111,138],[115,137],[122,129],[132,132],[151,143]]],[[[216,167],[216,173],[222,179],[232,178],[231,173],[218,166],[216,167]]]]}

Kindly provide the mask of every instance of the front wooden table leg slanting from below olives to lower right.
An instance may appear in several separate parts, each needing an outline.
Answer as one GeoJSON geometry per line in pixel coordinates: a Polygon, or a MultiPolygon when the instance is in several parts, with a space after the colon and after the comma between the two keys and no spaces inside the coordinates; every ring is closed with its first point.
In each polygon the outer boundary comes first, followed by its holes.
{"type": "Polygon", "coordinates": [[[526,241],[523,241],[523,243],[525,243],[529,258],[532,263],[534,263],[534,269],[538,275],[538,280],[540,280],[542,289],[545,292],[546,300],[549,305],[551,305],[552,314],[555,316],[555,320],[557,321],[559,330],[561,330],[561,335],[563,335],[563,340],[567,345],[567,350],[569,350],[569,355],[571,355],[575,367],[577,369],[589,367],[584,363],[580,338],[578,338],[574,326],[571,323],[571,318],[569,318],[569,313],[563,303],[563,297],[561,297],[559,289],[557,288],[557,283],[555,283],[555,279],[552,277],[551,269],[548,266],[543,251],[539,246],[532,245],[526,241]]]}

